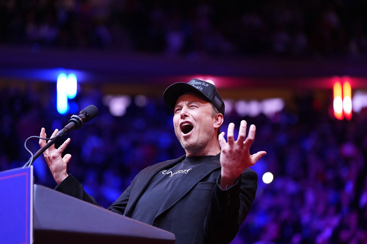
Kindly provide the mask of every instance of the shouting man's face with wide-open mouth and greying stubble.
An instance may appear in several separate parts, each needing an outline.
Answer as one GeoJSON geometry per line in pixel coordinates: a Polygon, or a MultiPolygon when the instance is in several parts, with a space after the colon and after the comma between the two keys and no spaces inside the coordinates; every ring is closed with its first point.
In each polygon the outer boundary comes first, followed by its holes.
{"type": "Polygon", "coordinates": [[[214,136],[213,109],[210,102],[195,93],[181,95],[174,108],[175,134],[186,153],[198,152],[210,143],[218,143],[214,136]]]}

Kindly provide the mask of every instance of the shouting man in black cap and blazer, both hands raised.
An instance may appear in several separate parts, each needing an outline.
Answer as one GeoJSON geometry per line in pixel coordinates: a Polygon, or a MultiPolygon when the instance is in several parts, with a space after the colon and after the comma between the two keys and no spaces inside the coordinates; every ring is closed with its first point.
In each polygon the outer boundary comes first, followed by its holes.
{"type": "MultiPolygon", "coordinates": [[[[177,244],[229,243],[255,198],[257,174],[248,167],[266,154],[250,154],[256,128],[251,125],[246,138],[246,121],[241,121],[235,140],[230,123],[226,142],[225,133],[219,134],[224,102],[215,86],[203,80],[175,83],[163,100],[174,110],[175,134],[186,155],[143,169],[108,209],[174,233],[177,244]]],[[[40,136],[46,137],[44,128],[40,136]]],[[[71,155],[62,158],[61,153],[69,142],[44,152],[55,189],[98,205],[66,173],[71,155]]],[[[40,146],[45,144],[40,140],[40,146]]]]}

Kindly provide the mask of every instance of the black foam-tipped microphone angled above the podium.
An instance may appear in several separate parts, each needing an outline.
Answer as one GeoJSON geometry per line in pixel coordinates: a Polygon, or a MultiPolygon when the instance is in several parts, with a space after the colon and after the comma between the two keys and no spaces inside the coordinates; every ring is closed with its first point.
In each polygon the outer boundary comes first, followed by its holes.
{"type": "Polygon", "coordinates": [[[72,129],[80,129],[84,123],[87,123],[94,119],[98,115],[98,108],[94,105],[89,105],[79,112],[79,115],[73,115],[69,119],[69,124],[57,132],[55,138],[59,138],[72,129]]]}

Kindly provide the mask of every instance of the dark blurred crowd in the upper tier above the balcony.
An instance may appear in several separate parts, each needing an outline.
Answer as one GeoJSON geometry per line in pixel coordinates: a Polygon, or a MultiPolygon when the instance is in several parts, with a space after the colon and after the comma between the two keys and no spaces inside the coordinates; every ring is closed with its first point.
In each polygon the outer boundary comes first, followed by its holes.
{"type": "Polygon", "coordinates": [[[0,43],[167,55],[359,56],[366,1],[0,0],[0,43]]]}

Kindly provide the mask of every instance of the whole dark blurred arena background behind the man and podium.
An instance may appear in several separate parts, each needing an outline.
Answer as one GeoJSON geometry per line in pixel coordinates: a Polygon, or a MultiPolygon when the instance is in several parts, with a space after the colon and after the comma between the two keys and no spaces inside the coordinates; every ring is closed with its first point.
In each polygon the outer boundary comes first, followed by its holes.
{"type": "MultiPolygon", "coordinates": [[[[50,136],[94,104],[99,115],[68,134],[68,172],[108,207],[139,170],[184,154],[164,89],[211,79],[226,102],[222,131],[245,119],[257,126],[252,153],[268,152],[232,243],[367,243],[367,110],[333,115],[334,82],[367,94],[366,10],[367,1],[0,0],[0,170],[28,160],[23,143],[41,127],[50,136]],[[61,72],[78,79],[66,115],[56,110],[61,72]],[[263,113],[266,101],[284,106],[263,113]]],[[[37,184],[55,187],[43,158],[34,168],[37,184]]]]}

